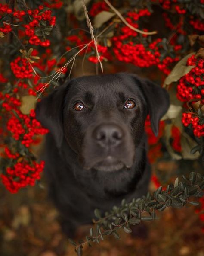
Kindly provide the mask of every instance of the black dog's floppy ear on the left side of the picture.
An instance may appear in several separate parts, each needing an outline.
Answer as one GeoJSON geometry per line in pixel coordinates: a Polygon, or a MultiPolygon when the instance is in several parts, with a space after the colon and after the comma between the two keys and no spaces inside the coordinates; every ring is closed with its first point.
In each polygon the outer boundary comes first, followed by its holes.
{"type": "Polygon", "coordinates": [[[53,135],[56,146],[60,147],[63,139],[63,103],[68,85],[60,86],[49,96],[37,103],[36,119],[53,135]]]}

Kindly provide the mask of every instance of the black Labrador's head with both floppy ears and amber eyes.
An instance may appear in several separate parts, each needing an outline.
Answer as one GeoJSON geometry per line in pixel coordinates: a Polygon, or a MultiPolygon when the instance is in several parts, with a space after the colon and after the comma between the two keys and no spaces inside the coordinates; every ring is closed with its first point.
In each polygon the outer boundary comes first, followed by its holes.
{"type": "Polygon", "coordinates": [[[168,106],[166,90],[122,73],[72,79],[39,102],[36,115],[83,168],[114,171],[133,165],[147,114],[157,135],[168,106]]]}

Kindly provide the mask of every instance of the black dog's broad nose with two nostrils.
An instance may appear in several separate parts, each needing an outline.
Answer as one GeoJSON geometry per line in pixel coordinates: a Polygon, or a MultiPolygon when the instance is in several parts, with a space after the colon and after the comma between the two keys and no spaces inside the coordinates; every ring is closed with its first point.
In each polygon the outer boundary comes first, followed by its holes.
{"type": "Polygon", "coordinates": [[[93,137],[102,147],[117,147],[123,140],[122,129],[115,124],[103,124],[96,127],[93,137]]]}

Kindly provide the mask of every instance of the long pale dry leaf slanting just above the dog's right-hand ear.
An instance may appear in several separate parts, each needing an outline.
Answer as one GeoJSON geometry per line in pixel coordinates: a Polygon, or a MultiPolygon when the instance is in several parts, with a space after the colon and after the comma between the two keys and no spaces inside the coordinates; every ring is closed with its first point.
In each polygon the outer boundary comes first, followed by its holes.
{"type": "Polygon", "coordinates": [[[164,81],[163,87],[166,87],[168,84],[178,81],[182,76],[189,73],[195,66],[186,66],[186,61],[191,57],[195,52],[192,52],[180,60],[176,66],[171,70],[171,73],[167,76],[164,81]]]}

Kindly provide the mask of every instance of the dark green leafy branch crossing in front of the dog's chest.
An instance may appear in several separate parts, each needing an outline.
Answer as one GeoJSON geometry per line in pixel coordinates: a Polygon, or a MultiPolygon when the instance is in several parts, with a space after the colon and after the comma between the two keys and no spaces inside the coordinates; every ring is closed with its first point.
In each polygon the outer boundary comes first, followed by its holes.
{"type": "Polygon", "coordinates": [[[83,246],[88,243],[99,243],[104,240],[104,236],[113,235],[115,239],[120,239],[117,231],[123,229],[126,233],[131,233],[131,225],[137,225],[141,221],[152,221],[156,218],[156,211],[164,211],[166,207],[182,208],[188,203],[199,205],[199,202],[190,201],[190,197],[202,197],[204,195],[204,176],[192,172],[189,178],[183,176],[185,182],[179,182],[176,178],[174,185],[169,184],[166,190],[159,187],[152,195],[148,193],[143,198],[133,199],[127,203],[122,200],[121,206],[114,206],[110,212],[106,212],[104,217],[98,209],[94,211],[97,220],[95,229],[90,229],[90,234],[86,236],[86,241],[80,240],[78,244],[69,240],[75,246],[77,256],[82,256],[83,246]]]}

